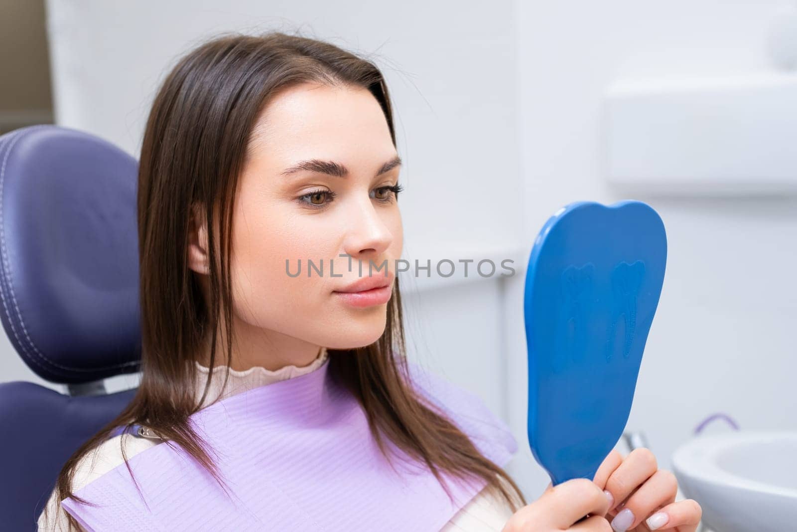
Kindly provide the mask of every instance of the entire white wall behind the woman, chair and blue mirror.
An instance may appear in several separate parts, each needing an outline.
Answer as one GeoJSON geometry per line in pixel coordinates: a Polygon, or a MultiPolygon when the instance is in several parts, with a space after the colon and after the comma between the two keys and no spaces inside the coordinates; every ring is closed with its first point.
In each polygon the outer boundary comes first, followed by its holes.
{"type": "MultiPolygon", "coordinates": [[[[619,77],[768,69],[764,29],[776,2],[216,4],[138,2],[122,12],[108,2],[48,2],[58,122],[135,154],[177,53],[218,30],[300,26],[378,51],[407,161],[406,256],[524,262],[559,207],[627,199],[599,175],[603,89],[619,77]]],[[[661,467],[713,412],[743,428],[797,428],[797,200],[634,199],[662,215],[669,258],[628,428],[646,433],[661,467]]],[[[524,265],[516,266],[505,282],[418,286],[406,307],[410,350],[485,397],[524,448],[524,265]]],[[[529,499],[548,483],[528,449],[510,471],[529,499]]]]}

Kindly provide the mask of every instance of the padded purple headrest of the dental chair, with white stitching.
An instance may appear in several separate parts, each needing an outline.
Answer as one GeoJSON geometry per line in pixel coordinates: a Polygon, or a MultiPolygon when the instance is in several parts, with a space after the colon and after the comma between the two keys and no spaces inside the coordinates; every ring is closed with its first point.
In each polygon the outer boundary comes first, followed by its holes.
{"type": "Polygon", "coordinates": [[[139,369],[138,163],[54,125],[0,136],[0,315],[42,378],[139,369]]]}

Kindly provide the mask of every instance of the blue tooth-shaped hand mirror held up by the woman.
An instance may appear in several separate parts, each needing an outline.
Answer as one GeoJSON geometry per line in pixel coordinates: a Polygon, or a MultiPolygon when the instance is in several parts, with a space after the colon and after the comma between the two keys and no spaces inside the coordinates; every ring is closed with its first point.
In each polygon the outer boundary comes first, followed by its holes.
{"type": "Polygon", "coordinates": [[[540,231],[526,271],[528,443],[554,486],[593,479],[622,436],[664,282],[646,203],[577,202],[540,231]]]}

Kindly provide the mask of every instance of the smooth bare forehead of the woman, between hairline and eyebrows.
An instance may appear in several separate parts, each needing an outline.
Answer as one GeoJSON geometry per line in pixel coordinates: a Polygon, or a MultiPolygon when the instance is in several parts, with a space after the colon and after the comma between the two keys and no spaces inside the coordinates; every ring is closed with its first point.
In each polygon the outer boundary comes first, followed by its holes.
{"type": "Polygon", "coordinates": [[[275,164],[296,158],[382,160],[395,154],[390,129],[366,89],[296,85],[269,100],[257,117],[249,156],[275,164]]]}

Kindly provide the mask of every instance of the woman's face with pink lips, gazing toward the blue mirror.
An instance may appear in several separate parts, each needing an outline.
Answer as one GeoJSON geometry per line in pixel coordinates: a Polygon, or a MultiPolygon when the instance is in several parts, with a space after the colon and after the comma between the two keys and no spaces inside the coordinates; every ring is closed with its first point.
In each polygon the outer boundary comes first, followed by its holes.
{"type": "Polygon", "coordinates": [[[296,339],[331,349],[379,339],[402,252],[401,215],[388,188],[398,184],[397,156],[365,89],[299,85],[269,101],[234,206],[237,335],[259,329],[284,345],[296,339]],[[386,261],[387,278],[384,267],[375,269],[386,261]],[[389,286],[340,293],[368,277],[389,286]]]}

